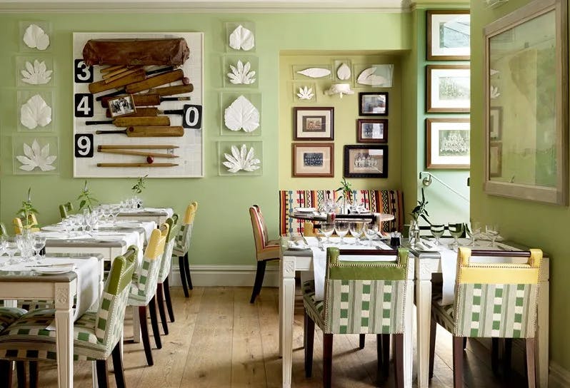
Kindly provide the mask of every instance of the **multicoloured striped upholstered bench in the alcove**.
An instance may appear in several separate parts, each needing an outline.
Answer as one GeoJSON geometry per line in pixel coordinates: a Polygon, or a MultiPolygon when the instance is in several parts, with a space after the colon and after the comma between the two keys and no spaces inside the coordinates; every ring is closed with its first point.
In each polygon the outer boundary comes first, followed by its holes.
{"type": "MultiPolygon", "coordinates": [[[[279,233],[303,232],[303,221],[289,217],[294,208],[319,209],[326,199],[336,200],[340,193],[334,190],[280,190],[279,191],[279,233]]],[[[353,190],[356,203],[364,205],[373,213],[389,213],[394,220],[382,223],[383,232],[403,230],[404,197],[399,190],[353,190]]]]}

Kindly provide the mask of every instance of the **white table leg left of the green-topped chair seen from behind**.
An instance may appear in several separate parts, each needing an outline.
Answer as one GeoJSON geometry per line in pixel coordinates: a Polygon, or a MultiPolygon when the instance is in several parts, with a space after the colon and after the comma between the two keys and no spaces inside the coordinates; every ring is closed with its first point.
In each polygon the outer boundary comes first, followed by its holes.
{"type": "Polygon", "coordinates": [[[283,387],[291,387],[293,367],[293,310],[295,302],[295,259],[281,259],[281,352],[283,355],[283,387]]]}

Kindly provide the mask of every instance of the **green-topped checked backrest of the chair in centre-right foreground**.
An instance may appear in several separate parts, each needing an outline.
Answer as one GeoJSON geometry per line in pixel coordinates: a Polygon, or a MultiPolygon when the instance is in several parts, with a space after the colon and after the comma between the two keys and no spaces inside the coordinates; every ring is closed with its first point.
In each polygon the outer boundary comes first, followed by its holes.
{"type": "MultiPolygon", "coordinates": [[[[324,333],[404,332],[408,250],[326,250],[324,333]],[[340,255],[392,255],[394,261],[341,261],[340,255]]],[[[315,321],[317,322],[317,321],[315,321]]]]}

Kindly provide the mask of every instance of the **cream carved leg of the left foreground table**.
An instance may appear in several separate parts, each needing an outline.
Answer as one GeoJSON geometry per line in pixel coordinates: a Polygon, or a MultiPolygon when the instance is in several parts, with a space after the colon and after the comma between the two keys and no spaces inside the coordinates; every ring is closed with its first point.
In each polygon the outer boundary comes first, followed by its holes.
{"type": "Polygon", "coordinates": [[[71,388],[74,385],[74,338],[73,338],[73,295],[76,280],[69,283],[56,283],[56,349],[59,388],[71,388]]]}

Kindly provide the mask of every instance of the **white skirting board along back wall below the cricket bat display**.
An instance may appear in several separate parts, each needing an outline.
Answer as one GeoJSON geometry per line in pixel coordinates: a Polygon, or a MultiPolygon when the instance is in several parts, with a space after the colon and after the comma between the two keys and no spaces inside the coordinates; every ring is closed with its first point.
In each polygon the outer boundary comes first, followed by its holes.
{"type": "MultiPolygon", "coordinates": [[[[190,265],[192,285],[201,287],[253,287],[257,265],[190,265]]],[[[172,261],[171,286],[181,286],[178,260],[172,261]]],[[[268,262],[264,287],[279,287],[279,262],[268,262]]]]}

